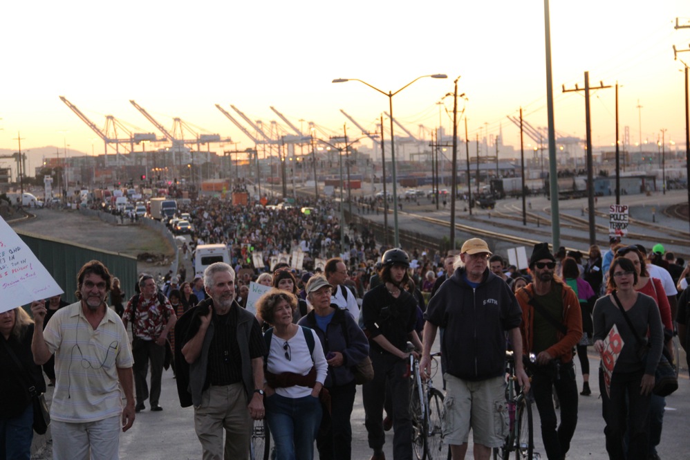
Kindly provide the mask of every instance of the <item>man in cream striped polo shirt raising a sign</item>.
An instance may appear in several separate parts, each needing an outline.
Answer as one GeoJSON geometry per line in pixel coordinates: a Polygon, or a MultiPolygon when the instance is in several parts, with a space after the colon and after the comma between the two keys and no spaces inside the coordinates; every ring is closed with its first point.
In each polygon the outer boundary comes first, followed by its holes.
{"type": "Polygon", "coordinates": [[[120,430],[134,423],[133,358],[122,320],[106,305],[111,279],[100,261],[87,262],[77,274],[79,301],[57,311],[45,331],[44,302],[31,304],[34,361],[55,353],[54,460],[117,459],[120,430]]]}

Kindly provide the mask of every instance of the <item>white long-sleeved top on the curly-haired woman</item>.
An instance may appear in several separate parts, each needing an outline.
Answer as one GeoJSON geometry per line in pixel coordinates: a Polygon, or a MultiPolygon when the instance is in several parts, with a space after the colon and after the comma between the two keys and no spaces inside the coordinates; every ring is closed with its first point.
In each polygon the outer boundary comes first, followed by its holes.
{"type": "MultiPolygon", "coordinates": [[[[328,372],[328,363],[324,356],[324,349],[321,347],[321,341],[314,331],[300,326],[297,333],[289,340],[281,339],[275,333],[273,334],[266,364],[269,372],[273,374],[292,372],[293,374],[306,376],[306,374],[309,374],[312,366],[316,367],[316,381],[324,385],[326,373],[328,372]],[[304,338],[304,333],[307,331],[314,336],[313,355],[309,354],[309,346],[304,338]],[[288,344],[288,347],[286,347],[286,344],[288,344]],[[285,353],[288,353],[288,356],[290,356],[289,360],[286,358],[285,353]]],[[[299,387],[297,385],[294,387],[276,388],[276,393],[286,398],[304,398],[304,396],[309,396],[311,392],[311,388],[299,387]]]]}

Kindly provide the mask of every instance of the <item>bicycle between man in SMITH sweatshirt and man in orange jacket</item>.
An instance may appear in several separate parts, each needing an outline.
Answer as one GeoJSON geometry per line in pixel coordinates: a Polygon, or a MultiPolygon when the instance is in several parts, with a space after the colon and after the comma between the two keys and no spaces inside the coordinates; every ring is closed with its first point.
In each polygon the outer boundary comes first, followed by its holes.
{"type": "MultiPolygon", "coordinates": [[[[526,358],[524,358],[526,359],[526,358]]],[[[534,355],[529,360],[534,362],[534,355]]],[[[505,387],[505,403],[509,421],[508,434],[500,448],[494,448],[494,460],[507,460],[515,452],[516,460],[541,459],[538,452],[534,452],[534,423],[532,421],[532,401],[530,394],[516,389],[515,360],[512,351],[505,352],[505,373],[507,385],[505,387]]]]}

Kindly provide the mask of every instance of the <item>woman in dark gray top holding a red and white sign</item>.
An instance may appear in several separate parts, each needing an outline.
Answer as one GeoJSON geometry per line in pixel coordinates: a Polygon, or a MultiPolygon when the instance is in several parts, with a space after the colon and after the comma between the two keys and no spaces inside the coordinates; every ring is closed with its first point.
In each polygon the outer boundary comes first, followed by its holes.
{"type": "Polygon", "coordinates": [[[633,262],[617,257],[608,271],[610,294],[594,307],[594,347],[602,355],[599,389],[606,451],[616,460],[647,458],[649,402],[664,340],[659,309],[651,297],[635,291],[637,282],[633,262]],[[649,339],[639,343],[636,337],[646,338],[648,332],[649,339]],[[627,456],[626,430],[630,431],[627,456]]]}

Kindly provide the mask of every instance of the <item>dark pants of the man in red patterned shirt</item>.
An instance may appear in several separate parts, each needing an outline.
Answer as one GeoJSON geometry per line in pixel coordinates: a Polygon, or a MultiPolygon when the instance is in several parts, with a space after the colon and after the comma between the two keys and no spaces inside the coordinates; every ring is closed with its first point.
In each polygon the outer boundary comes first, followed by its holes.
{"type": "Polygon", "coordinates": [[[135,338],[132,346],[134,357],[134,386],[136,387],[137,404],[142,404],[149,398],[149,386],[146,375],[149,373],[151,361],[151,407],[158,405],[160,398],[160,380],[163,374],[163,360],[165,348],[157,345],[153,340],[135,338]]]}

